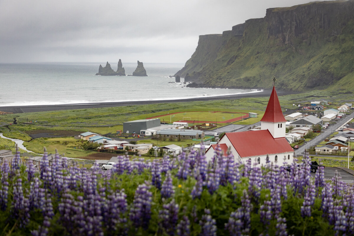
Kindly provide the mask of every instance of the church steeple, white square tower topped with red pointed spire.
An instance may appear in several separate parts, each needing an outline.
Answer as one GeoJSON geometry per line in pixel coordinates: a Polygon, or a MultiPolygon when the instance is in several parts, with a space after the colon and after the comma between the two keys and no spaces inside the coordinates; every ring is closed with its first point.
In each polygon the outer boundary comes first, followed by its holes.
{"type": "Polygon", "coordinates": [[[285,137],[285,118],[281,111],[278,96],[275,87],[270,94],[267,108],[261,119],[261,129],[268,129],[273,138],[285,137]]]}

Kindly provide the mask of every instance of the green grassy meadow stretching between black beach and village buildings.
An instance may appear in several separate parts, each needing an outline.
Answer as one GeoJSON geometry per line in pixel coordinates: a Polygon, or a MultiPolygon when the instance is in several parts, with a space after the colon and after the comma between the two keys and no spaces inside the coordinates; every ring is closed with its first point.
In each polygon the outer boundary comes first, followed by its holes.
{"type": "MultiPolygon", "coordinates": [[[[0,116],[0,132],[6,137],[25,140],[24,145],[28,150],[36,153],[43,153],[46,147],[49,153],[58,150],[59,154],[64,153],[68,157],[82,157],[92,154],[91,151],[79,150],[81,141],[73,138],[74,134],[83,132],[94,132],[98,134],[115,134],[117,130],[123,129],[123,122],[147,119],[149,117],[159,117],[161,121],[174,122],[179,120],[191,120],[200,122],[216,122],[217,127],[227,125],[228,123],[219,123],[242,117],[242,114],[249,112],[257,113],[258,117],[235,121],[232,123],[240,125],[252,125],[261,120],[265,108],[267,107],[269,97],[258,98],[240,98],[231,100],[210,100],[198,102],[179,102],[179,103],[159,103],[130,105],[123,107],[110,108],[91,108],[78,110],[60,110],[35,113],[18,113],[0,116]],[[220,111],[220,112],[215,112],[220,111]],[[177,114],[173,114],[177,113],[177,114]],[[17,117],[18,125],[10,125],[13,117],[17,117]],[[189,117],[189,118],[186,118],[189,117]],[[34,121],[30,124],[24,122],[34,121]],[[50,132],[60,136],[60,138],[35,138],[29,135],[33,133],[50,132]]],[[[327,100],[330,105],[327,108],[336,108],[346,102],[352,102],[353,96],[350,93],[340,94],[330,91],[309,91],[306,93],[289,94],[279,96],[282,109],[295,112],[297,107],[292,104],[306,104],[312,100],[327,100]]],[[[129,140],[129,139],[127,139],[129,140]]],[[[6,139],[0,139],[0,147],[11,149],[11,143],[6,139]]],[[[11,141],[10,141],[11,142],[11,141]]],[[[153,143],[157,145],[156,140],[139,140],[138,143],[153,143]]],[[[192,140],[182,140],[180,142],[160,141],[159,146],[168,144],[177,144],[187,146],[194,144],[192,140]]],[[[23,152],[23,151],[22,151],[23,152]]]]}

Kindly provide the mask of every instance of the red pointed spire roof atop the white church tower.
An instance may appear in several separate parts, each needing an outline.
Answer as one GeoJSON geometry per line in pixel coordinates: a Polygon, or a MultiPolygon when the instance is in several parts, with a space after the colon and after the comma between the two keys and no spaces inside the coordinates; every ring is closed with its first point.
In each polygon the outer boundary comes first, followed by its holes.
{"type": "Polygon", "coordinates": [[[261,119],[265,122],[286,122],[283,112],[279,104],[278,96],[276,95],[275,87],[273,86],[272,94],[270,94],[267,108],[261,119]]]}

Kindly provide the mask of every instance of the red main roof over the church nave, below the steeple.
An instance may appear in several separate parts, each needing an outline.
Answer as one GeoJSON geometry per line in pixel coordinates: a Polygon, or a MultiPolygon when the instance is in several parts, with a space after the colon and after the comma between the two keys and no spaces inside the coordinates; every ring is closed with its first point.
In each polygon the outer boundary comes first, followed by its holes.
{"type": "MultiPolygon", "coordinates": [[[[268,129],[225,133],[225,135],[240,157],[293,152],[285,138],[273,138],[268,129]]],[[[282,160],[283,157],[279,156],[279,158],[282,160]]]]}

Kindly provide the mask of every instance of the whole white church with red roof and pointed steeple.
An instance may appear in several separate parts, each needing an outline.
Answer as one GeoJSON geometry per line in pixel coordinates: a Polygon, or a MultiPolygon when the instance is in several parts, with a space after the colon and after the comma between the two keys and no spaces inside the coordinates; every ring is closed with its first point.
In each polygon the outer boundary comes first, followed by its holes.
{"type": "Polygon", "coordinates": [[[281,111],[275,87],[268,101],[267,108],[261,119],[261,129],[225,133],[217,144],[213,144],[205,152],[206,160],[212,159],[217,146],[221,148],[223,155],[229,150],[235,161],[242,163],[251,162],[251,165],[261,166],[273,162],[278,166],[283,162],[291,164],[294,151],[285,139],[285,118],[281,111]]]}

